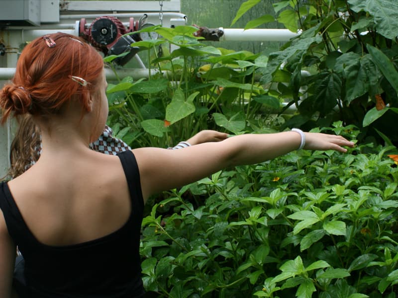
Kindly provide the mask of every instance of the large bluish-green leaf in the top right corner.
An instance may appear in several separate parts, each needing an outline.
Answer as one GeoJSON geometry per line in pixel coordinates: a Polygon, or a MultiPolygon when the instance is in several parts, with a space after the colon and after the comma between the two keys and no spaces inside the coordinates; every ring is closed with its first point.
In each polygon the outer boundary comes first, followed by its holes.
{"type": "Polygon", "coordinates": [[[350,9],[365,11],[374,17],[376,31],[395,39],[398,35],[398,2],[396,0],[348,0],[350,9]]]}

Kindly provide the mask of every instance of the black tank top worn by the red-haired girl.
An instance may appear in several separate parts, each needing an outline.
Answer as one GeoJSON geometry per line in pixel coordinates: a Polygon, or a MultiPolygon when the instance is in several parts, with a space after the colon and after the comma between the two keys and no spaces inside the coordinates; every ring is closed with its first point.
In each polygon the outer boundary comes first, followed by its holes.
{"type": "Polygon", "coordinates": [[[0,184],[0,209],[8,233],[25,259],[29,298],[143,296],[139,243],[144,201],[139,170],[131,150],[118,156],[130,191],[131,214],[118,230],[84,243],[68,246],[40,243],[23,221],[7,184],[0,184]]]}

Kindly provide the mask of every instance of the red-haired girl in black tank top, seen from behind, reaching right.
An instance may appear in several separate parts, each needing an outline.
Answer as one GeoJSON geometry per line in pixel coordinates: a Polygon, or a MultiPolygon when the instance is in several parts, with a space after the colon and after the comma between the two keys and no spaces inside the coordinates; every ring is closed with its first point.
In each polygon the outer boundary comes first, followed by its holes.
{"type": "Polygon", "coordinates": [[[140,228],[150,195],[296,149],[345,152],[354,145],[296,129],[101,154],[89,144],[105,126],[106,85],[95,49],[56,33],[25,47],[2,88],[1,122],[31,114],[42,152],[26,172],[0,184],[0,297],[11,297],[13,281],[20,298],[142,297],[140,228]],[[25,259],[23,285],[13,278],[16,245],[25,259]]]}

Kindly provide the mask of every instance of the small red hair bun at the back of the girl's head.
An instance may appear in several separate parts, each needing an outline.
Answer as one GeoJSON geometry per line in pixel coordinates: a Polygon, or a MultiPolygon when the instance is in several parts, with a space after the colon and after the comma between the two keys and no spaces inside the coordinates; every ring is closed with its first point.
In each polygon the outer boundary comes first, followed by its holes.
{"type": "Polygon", "coordinates": [[[23,87],[7,84],[2,88],[0,107],[3,110],[3,118],[6,118],[10,113],[14,113],[14,115],[25,114],[31,106],[32,98],[23,87]]]}

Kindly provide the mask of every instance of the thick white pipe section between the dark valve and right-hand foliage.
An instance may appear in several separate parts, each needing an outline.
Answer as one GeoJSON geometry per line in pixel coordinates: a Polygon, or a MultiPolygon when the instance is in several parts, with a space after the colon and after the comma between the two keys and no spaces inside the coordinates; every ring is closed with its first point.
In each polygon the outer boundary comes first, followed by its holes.
{"type": "Polygon", "coordinates": [[[289,41],[299,33],[288,29],[224,29],[220,40],[227,41],[289,41]]]}

